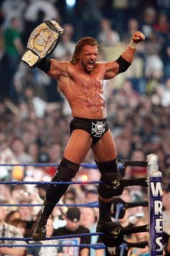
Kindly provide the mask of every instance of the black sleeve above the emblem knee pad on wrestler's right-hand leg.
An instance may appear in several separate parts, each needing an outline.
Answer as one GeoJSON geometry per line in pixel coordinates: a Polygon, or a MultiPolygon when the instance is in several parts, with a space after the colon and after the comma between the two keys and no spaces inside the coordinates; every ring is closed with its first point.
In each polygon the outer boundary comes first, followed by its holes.
{"type": "Polygon", "coordinates": [[[117,158],[115,158],[112,161],[107,161],[102,163],[98,163],[97,161],[95,162],[101,174],[110,174],[110,173],[119,174],[119,168],[117,167],[117,158]]]}

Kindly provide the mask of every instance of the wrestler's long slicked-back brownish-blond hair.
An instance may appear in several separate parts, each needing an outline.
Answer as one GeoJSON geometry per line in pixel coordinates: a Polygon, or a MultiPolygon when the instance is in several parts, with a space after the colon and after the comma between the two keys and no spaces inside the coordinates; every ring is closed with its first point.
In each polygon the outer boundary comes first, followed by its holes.
{"type": "Polygon", "coordinates": [[[97,43],[97,40],[95,38],[91,38],[91,37],[81,38],[75,46],[73,57],[70,61],[72,64],[76,63],[78,56],[81,53],[84,46],[97,46],[97,48],[99,48],[99,44],[97,43]]]}

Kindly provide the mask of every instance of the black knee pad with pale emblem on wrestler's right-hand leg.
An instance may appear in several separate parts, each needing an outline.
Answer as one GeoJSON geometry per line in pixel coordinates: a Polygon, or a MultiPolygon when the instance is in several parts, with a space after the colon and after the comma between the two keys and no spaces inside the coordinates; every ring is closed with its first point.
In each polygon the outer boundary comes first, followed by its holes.
{"type": "Polygon", "coordinates": [[[123,187],[120,187],[120,181],[122,176],[120,174],[103,174],[99,184],[98,193],[101,197],[109,199],[111,197],[117,197],[122,195],[123,187]]]}

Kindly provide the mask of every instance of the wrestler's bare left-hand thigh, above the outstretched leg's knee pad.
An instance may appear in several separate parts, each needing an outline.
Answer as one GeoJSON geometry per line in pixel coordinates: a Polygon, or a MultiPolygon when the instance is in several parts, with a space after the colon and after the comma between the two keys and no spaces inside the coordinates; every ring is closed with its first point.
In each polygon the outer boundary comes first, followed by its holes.
{"type": "Polygon", "coordinates": [[[71,133],[63,156],[73,163],[80,164],[89,152],[91,143],[92,138],[88,132],[82,129],[75,129],[71,133]]]}

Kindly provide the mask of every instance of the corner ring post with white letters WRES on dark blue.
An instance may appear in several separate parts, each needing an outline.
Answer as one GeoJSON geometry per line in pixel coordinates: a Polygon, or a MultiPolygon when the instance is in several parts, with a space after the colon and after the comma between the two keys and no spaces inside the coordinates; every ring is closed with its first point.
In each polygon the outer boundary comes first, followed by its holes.
{"type": "Polygon", "coordinates": [[[157,155],[147,155],[150,255],[163,255],[162,174],[157,155]]]}

